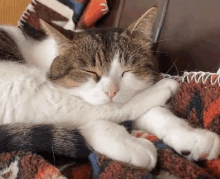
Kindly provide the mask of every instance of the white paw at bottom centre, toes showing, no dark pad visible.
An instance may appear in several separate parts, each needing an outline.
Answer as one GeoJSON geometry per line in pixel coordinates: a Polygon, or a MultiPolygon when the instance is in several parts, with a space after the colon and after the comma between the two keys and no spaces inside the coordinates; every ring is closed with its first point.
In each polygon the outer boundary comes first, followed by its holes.
{"type": "Polygon", "coordinates": [[[148,140],[142,138],[131,138],[126,141],[129,152],[129,163],[152,170],[157,162],[157,149],[148,140]]]}

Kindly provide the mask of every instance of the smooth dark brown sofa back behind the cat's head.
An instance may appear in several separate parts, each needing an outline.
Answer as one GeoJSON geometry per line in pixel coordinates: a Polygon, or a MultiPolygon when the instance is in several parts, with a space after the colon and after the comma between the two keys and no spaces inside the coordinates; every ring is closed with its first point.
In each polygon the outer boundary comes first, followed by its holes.
{"type": "MultiPolygon", "coordinates": [[[[110,13],[97,26],[127,27],[163,0],[109,0],[110,13]]],[[[156,57],[162,72],[216,72],[220,62],[220,1],[170,0],[156,57]],[[174,65],[175,62],[175,65],[174,65]],[[173,65],[173,66],[172,66],[173,65]],[[172,67],[171,67],[172,66],[172,67]]],[[[157,25],[159,18],[155,24],[157,25]]]]}

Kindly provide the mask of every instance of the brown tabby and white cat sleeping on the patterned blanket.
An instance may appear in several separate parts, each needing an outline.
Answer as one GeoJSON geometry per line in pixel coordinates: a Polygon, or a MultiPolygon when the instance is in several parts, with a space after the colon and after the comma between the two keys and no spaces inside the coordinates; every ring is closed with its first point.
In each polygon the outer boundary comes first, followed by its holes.
{"type": "MultiPolygon", "coordinates": [[[[73,32],[72,41],[41,20],[49,37],[38,44],[30,40],[34,52],[19,29],[5,27],[29,65],[0,62],[1,124],[73,126],[95,151],[151,170],[157,159],[154,145],[118,125],[133,120],[134,128],[155,134],[188,159],[216,158],[217,134],[193,129],[164,107],[178,85],[171,79],[155,83],[150,50],[155,16],[151,8],[126,30],[73,32]]],[[[59,140],[60,147],[63,143],[59,140]]]]}

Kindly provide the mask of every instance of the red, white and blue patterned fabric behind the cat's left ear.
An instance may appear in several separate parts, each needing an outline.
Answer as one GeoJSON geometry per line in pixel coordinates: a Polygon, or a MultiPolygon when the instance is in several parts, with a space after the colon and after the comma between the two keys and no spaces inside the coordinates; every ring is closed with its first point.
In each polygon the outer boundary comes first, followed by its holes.
{"type": "Polygon", "coordinates": [[[32,0],[18,26],[35,39],[43,38],[39,19],[66,30],[92,28],[109,11],[106,0],[32,0]]]}

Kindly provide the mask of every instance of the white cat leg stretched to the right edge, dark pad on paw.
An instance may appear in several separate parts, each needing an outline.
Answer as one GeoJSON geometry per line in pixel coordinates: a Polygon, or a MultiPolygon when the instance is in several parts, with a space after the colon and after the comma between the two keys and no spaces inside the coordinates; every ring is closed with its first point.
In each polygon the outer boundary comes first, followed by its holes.
{"type": "Polygon", "coordinates": [[[211,160],[220,153],[220,138],[216,133],[192,128],[164,107],[151,109],[134,122],[134,127],[156,135],[190,160],[211,160]]]}

